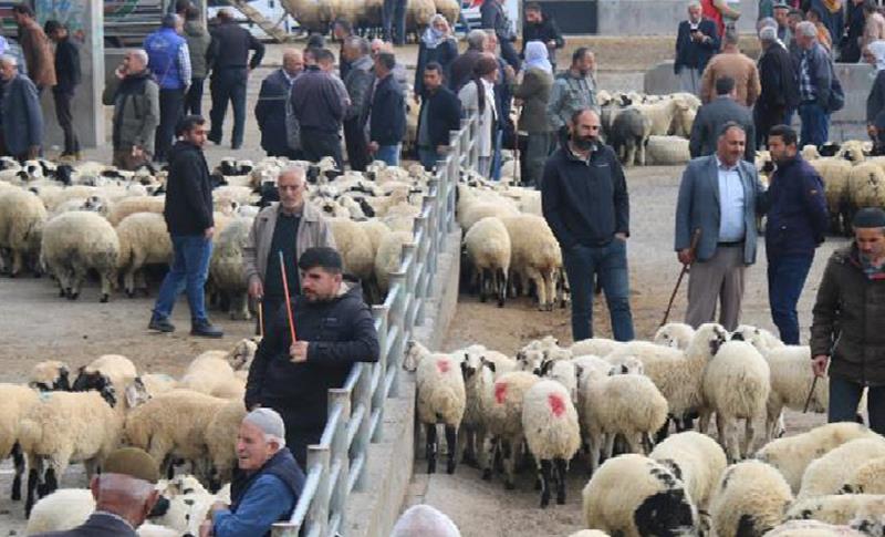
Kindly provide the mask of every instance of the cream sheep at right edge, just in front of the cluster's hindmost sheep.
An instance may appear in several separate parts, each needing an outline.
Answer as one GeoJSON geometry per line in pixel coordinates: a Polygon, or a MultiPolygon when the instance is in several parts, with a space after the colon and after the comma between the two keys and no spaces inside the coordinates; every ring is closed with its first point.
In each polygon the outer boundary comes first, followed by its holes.
{"type": "Polygon", "coordinates": [[[802,474],[796,498],[837,494],[854,472],[872,458],[885,457],[885,438],[857,438],[812,461],[802,474]]]}

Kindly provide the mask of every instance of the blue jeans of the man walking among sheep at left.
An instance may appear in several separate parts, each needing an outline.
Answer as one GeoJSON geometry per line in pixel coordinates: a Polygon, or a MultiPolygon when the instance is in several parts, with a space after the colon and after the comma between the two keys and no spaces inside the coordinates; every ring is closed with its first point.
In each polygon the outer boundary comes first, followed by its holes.
{"type": "Polygon", "coordinates": [[[202,235],[173,235],[171,240],[175,258],[159,288],[157,302],[154,304],[154,316],[168,319],[175,299],[187,289],[191,324],[209,322],[204,287],[209,275],[212,241],[202,235]]]}

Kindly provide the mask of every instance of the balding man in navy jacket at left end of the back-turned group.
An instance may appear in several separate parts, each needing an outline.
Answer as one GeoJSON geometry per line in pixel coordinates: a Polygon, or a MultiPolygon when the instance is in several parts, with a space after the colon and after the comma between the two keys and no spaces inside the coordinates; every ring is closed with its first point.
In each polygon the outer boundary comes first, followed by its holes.
{"type": "Polygon", "coordinates": [[[296,147],[290,146],[291,134],[294,125],[289,117],[289,95],[292,83],[304,70],[304,59],[301,51],[295,49],[283,50],[283,65],[261,81],[261,91],[256,103],[256,121],[261,131],[261,148],[268,156],[284,156],[298,159],[296,147]]]}

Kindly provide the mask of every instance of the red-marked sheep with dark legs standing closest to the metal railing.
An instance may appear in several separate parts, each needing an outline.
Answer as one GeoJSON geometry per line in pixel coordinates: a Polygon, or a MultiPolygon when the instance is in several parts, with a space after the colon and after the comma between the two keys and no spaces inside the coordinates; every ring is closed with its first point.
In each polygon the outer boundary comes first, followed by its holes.
{"type": "Polygon", "coordinates": [[[455,473],[458,427],[461,425],[467,405],[462,358],[452,354],[430,353],[424,345],[410,342],[403,368],[415,372],[417,388],[418,421],[427,433],[427,473],[436,472],[437,424],[446,430],[448,461],[446,472],[455,473]]]}

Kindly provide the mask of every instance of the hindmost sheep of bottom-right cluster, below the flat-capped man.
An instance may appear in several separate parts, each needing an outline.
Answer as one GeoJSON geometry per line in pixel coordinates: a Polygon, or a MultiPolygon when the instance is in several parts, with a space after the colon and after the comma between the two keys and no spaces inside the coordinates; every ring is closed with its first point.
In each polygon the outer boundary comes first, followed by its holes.
{"type": "Polygon", "coordinates": [[[798,493],[805,468],[814,458],[856,438],[877,437],[861,424],[829,423],[805,433],[769,442],[756,454],[783,474],[793,493],[798,493]]]}

